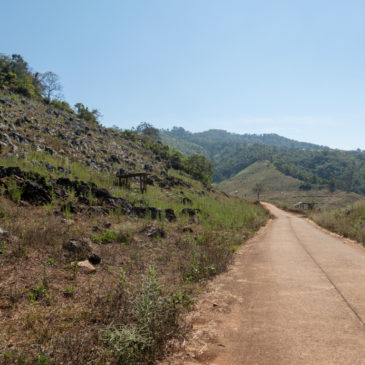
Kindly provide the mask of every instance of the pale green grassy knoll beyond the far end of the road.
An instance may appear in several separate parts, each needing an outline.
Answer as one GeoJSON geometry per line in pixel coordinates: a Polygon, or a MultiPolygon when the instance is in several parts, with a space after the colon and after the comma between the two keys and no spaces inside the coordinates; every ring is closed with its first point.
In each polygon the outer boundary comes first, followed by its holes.
{"type": "Polygon", "coordinates": [[[256,162],[229,180],[220,183],[219,187],[227,193],[237,192],[236,195],[255,199],[256,194],[252,189],[257,182],[264,184],[260,199],[277,201],[289,206],[299,201],[315,201],[319,208],[327,209],[364,200],[358,194],[339,190],[334,193],[318,187],[309,191],[300,190],[301,181],[282,174],[269,162],[256,162]]]}

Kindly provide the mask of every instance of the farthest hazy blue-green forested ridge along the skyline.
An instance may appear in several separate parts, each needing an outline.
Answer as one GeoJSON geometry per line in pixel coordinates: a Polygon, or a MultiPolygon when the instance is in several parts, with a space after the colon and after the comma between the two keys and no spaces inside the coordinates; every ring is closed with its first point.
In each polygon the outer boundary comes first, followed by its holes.
{"type": "Polygon", "coordinates": [[[192,133],[181,127],[173,127],[171,130],[160,130],[163,141],[180,152],[191,155],[203,154],[211,160],[217,151],[231,145],[264,144],[299,150],[322,150],[326,147],[307,142],[298,142],[274,133],[270,134],[237,134],[221,129],[210,129],[205,132],[192,133]]]}

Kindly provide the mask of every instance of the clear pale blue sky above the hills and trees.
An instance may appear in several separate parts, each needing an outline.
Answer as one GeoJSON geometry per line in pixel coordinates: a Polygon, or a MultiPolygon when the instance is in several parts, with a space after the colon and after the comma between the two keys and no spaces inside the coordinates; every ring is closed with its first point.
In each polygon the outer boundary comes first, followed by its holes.
{"type": "Polygon", "coordinates": [[[0,52],[103,124],[365,149],[365,2],[0,0],[0,52]]]}

